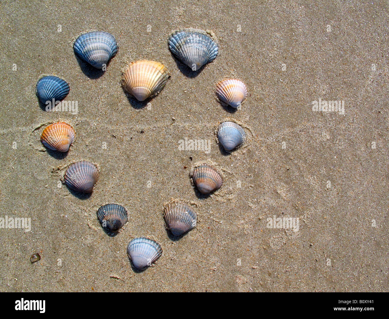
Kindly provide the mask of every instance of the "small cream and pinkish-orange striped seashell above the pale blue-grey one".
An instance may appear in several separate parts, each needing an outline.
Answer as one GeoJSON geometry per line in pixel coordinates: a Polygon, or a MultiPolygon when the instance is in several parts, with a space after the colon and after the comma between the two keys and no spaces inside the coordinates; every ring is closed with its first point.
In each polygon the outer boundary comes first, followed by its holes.
{"type": "Polygon", "coordinates": [[[215,93],[219,100],[233,108],[238,108],[247,96],[247,87],[240,80],[228,79],[216,84],[215,93]]]}

